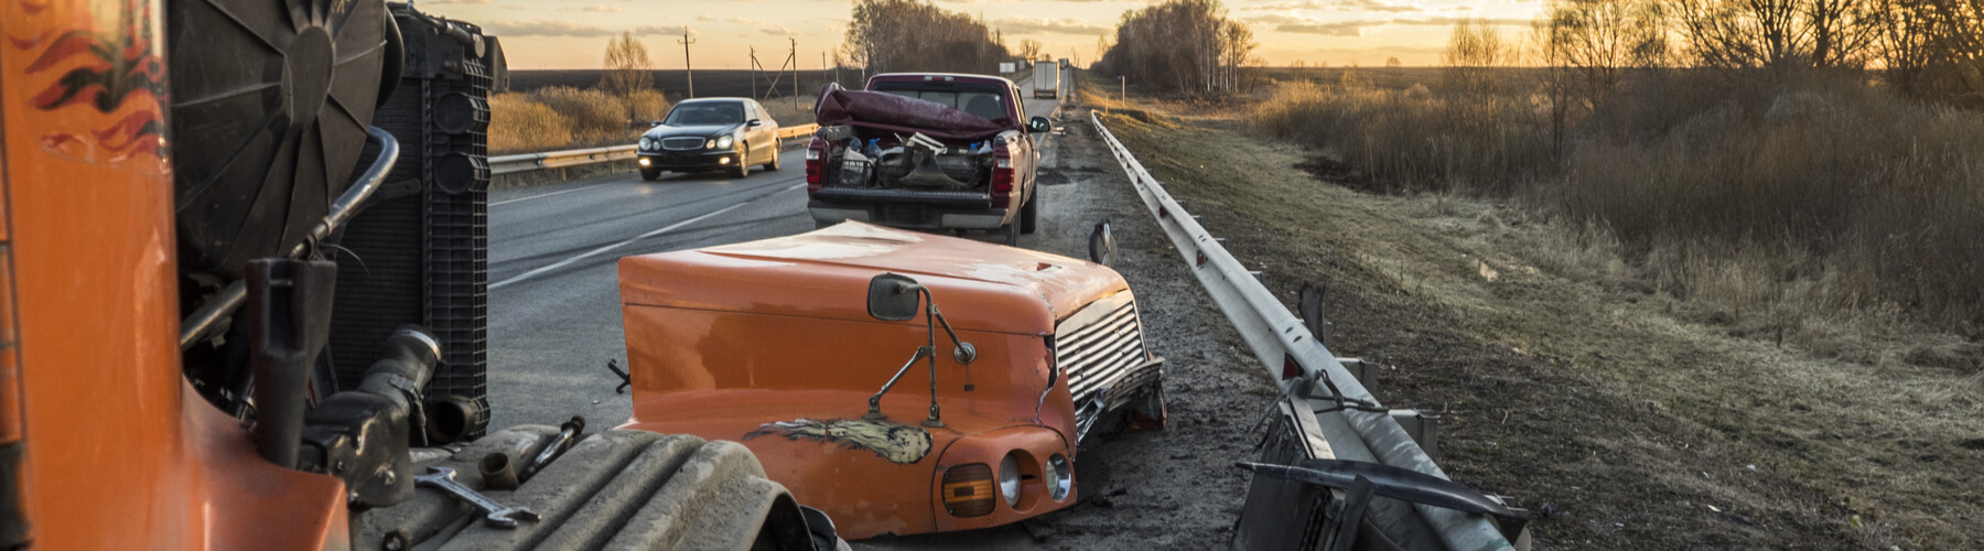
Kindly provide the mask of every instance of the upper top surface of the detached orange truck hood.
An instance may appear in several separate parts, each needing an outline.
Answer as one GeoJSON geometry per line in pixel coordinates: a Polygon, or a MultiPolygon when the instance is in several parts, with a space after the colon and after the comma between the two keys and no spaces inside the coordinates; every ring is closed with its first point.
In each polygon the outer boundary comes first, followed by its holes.
{"type": "Polygon", "coordinates": [[[867,281],[883,272],[930,287],[960,331],[1046,335],[1087,301],[1129,289],[1093,262],[861,222],[619,262],[625,305],[835,319],[869,319],[867,281]]]}

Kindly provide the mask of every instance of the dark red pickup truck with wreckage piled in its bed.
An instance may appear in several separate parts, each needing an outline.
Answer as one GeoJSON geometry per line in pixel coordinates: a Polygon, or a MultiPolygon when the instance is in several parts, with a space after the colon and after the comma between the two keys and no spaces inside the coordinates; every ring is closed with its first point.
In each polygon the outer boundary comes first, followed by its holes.
{"type": "Polygon", "coordinates": [[[806,192],[817,228],[986,230],[1008,246],[1034,232],[1036,135],[1052,125],[1026,115],[1010,79],[883,73],[865,91],[829,83],[815,105],[806,192]]]}

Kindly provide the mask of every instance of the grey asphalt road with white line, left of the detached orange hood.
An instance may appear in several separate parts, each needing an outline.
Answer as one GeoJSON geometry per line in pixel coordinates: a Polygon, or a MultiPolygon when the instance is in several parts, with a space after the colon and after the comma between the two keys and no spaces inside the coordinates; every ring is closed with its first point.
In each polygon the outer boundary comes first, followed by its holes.
{"type": "MultiPolygon", "coordinates": [[[[1020,89],[1030,115],[1048,117],[1059,103],[1032,99],[1028,81],[1020,89]]],[[[1044,166],[1054,166],[1048,143],[1044,166]]],[[[804,155],[786,151],[784,170],[738,180],[706,172],[643,182],[625,172],[490,192],[490,426],[573,414],[595,428],[625,422],[631,400],[613,392],[619,379],[605,369],[627,361],[615,262],[813,230],[804,155]]],[[[1054,186],[1042,190],[1052,226],[1054,186]]],[[[1020,246],[1036,240],[1022,236],[1020,246]]]]}

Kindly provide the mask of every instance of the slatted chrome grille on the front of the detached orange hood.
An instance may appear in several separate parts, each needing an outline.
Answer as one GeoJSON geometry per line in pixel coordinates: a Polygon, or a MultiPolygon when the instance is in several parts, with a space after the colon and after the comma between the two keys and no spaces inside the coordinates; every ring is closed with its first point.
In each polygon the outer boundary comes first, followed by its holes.
{"type": "Polygon", "coordinates": [[[1067,373],[1081,440],[1107,410],[1157,383],[1161,371],[1143,343],[1137,299],[1117,293],[1089,303],[1054,329],[1054,365],[1067,373]]]}

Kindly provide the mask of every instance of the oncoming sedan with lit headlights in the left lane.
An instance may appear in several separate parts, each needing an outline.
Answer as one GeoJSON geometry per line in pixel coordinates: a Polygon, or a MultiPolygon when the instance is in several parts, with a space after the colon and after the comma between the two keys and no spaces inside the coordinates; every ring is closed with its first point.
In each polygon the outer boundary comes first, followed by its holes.
{"type": "Polygon", "coordinates": [[[778,170],[778,121],[750,97],[688,99],[641,135],[641,178],[669,172],[730,170],[750,176],[752,165],[778,170]]]}

